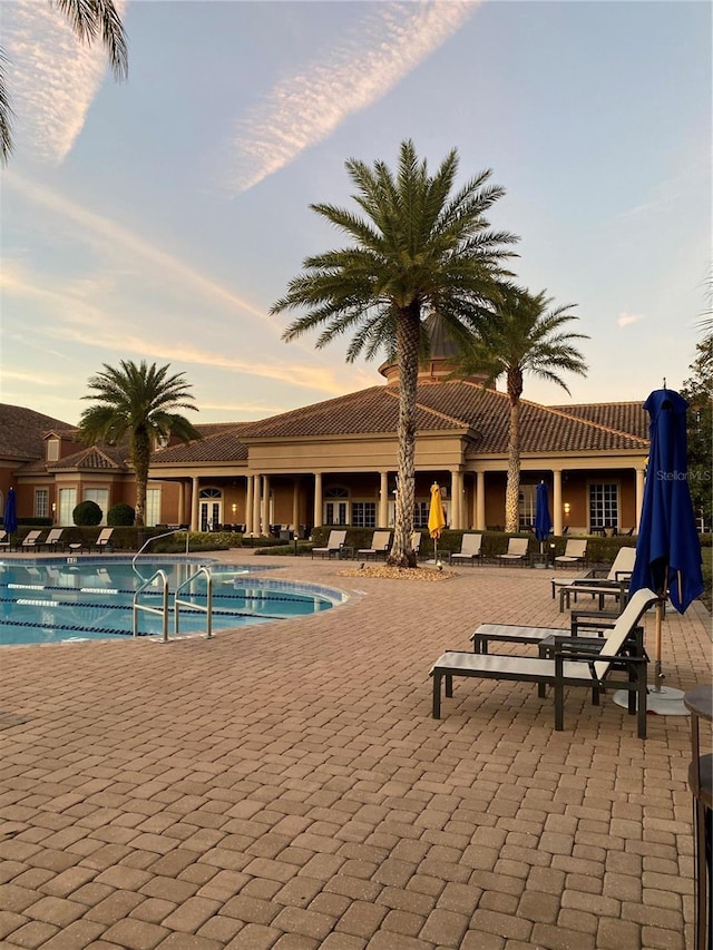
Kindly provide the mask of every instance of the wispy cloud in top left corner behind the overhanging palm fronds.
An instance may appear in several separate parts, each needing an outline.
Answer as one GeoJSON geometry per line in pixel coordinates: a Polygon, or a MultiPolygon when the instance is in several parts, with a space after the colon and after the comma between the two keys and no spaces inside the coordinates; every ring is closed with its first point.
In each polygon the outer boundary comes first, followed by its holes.
{"type": "MultiPolygon", "coordinates": [[[[117,0],[123,13],[125,2],[117,0]]],[[[100,42],[80,43],[62,13],[38,0],[2,4],[2,43],[18,151],[59,165],[80,134],[107,71],[100,42]]]]}

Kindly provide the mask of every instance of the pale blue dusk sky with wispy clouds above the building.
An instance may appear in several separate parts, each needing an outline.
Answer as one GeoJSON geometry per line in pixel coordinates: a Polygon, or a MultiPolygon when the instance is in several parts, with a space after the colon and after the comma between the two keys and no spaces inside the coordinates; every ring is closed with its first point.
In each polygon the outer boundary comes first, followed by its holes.
{"type": "Polygon", "coordinates": [[[104,363],[185,372],[194,422],[276,414],[383,382],[348,340],[270,315],[344,238],[344,161],[411,138],[506,195],[494,227],[533,292],[576,304],[572,396],[682,384],[711,274],[707,2],[121,2],[129,78],[39,0],[0,4],[16,151],[0,172],[0,401],[75,423],[104,363]]]}

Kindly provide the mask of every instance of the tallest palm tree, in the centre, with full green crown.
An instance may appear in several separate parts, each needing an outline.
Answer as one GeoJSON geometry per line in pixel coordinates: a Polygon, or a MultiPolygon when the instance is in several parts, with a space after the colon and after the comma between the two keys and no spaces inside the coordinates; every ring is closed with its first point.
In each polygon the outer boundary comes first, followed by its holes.
{"type": "Polygon", "coordinates": [[[490,232],[487,209],[504,194],[486,186],[481,172],[451,195],[458,172],[453,149],[434,175],[417,158],[412,141],[401,144],[394,175],[383,161],[370,168],[350,159],[352,197],[365,217],[333,205],[311,205],[352,239],[341,251],[307,257],[304,273],[290,282],[272,313],[306,307],[285,331],[294,340],[322,326],[322,347],[348,331],[354,335],[346,360],[387,351],[399,370],[399,491],[389,562],[416,565],[411,550],[414,510],[416,391],[419,358],[428,351],[423,320],[438,311],[456,339],[467,336],[460,314],[491,300],[502,245],[516,241],[490,232]]]}

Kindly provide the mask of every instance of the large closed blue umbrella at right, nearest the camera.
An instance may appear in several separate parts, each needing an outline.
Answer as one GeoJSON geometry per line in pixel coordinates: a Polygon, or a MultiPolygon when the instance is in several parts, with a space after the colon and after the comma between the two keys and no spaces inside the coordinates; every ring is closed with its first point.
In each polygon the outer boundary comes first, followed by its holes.
{"type": "MultiPolygon", "coordinates": [[[[629,595],[649,587],[683,614],[703,592],[701,542],[688,489],[686,409],[677,392],[654,390],[644,409],[651,417],[648,463],[629,595]]],[[[655,684],[661,689],[661,620],[656,610],[655,684]]]]}

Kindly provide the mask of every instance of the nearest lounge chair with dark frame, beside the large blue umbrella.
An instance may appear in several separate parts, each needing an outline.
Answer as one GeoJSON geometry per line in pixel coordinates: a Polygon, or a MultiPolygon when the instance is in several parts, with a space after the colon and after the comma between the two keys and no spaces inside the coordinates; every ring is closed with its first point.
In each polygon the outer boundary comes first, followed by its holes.
{"type": "Polygon", "coordinates": [[[653,590],[638,590],[617,618],[605,639],[555,636],[554,658],[530,656],[502,656],[449,650],[431,667],[433,677],[433,718],[440,718],[441,680],[446,679],[446,696],[453,695],[453,677],[471,676],[480,679],[510,679],[535,683],[539,687],[553,686],[555,691],[555,729],[564,727],[565,686],[585,686],[592,689],[595,705],[606,687],[628,692],[628,713],[637,717],[639,738],[646,738],[646,664],[643,633],[638,621],[658,599],[653,590]],[[617,674],[618,678],[617,678],[617,674]],[[624,675],[622,675],[624,674],[624,675]]]}

